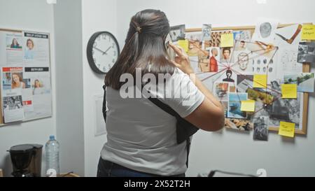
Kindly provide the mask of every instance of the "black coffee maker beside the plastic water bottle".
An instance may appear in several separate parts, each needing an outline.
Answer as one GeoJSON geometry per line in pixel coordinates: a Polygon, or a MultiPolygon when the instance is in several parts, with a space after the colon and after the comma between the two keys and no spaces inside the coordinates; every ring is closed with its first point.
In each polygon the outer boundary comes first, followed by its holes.
{"type": "Polygon", "coordinates": [[[40,177],[42,150],[43,146],[38,144],[11,147],[8,152],[10,152],[13,166],[12,175],[15,177],[40,177]]]}

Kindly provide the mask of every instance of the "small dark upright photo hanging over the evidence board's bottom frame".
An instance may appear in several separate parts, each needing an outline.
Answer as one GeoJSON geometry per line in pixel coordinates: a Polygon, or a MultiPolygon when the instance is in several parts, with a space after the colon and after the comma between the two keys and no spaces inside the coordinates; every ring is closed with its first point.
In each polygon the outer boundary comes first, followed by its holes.
{"type": "Polygon", "coordinates": [[[268,141],[268,121],[266,116],[253,119],[253,140],[268,141]]]}

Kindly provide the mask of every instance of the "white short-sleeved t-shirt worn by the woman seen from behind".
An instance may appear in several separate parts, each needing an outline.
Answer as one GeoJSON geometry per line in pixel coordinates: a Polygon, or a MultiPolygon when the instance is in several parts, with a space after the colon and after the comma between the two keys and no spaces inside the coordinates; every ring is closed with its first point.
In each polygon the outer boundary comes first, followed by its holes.
{"type": "MultiPolygon", "coordinates": [[[[158,91],[150,90],[181,115],[190,115],[204,101],[204,94],[198,90],[189,76],[176,69],[158,91]],[[188,93],[184,91],[189,89],[188,93]],[[175,94],[170,94],[170,92],[175,94]],[[182,94],[177,94],[181,92],[182,94]],[[177,97],[176,97],[177,96],[177,97]]],[[[146,86],[144,87],[146,88],[146,86]]],[[[109,160],[123,167],[162,176],[186,172],[186,141],[176,143],[176,118],[169,115],[146,98],[125,98],[120,90],[106,88],[107,143],[101,152],[103,160],[109,160]]]]}

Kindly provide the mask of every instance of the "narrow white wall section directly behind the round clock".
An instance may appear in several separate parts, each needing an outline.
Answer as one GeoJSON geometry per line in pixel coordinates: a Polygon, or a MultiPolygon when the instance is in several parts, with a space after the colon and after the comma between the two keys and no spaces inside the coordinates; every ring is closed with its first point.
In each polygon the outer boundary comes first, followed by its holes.
{"type": "Polygon", "coordinates": [[[115,0],[82,0],[85,176],[96,176],[100,151],[106,142],[106,135],[94,136],[94,95],[104,94],[104,75],[90,69],[86,47],[96,31],[109,31],[117,36],[117,10],[115,0]]]}

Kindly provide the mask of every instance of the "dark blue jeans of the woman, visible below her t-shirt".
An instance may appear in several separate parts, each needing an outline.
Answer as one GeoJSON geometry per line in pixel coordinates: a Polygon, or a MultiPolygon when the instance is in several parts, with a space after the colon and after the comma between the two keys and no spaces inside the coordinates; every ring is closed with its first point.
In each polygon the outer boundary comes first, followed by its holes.
{"type": "Polygon", "coordinates": [[[100,157],[99,165],[97,167],[97,177],[185,177],[185,174],[179,174],[174,176],[160,176],[157,174],[148,174],[128,169],[126,167],[120,166],[107,160],[102,160],[102,157],[100,157]]]}

